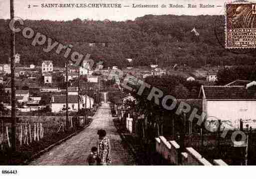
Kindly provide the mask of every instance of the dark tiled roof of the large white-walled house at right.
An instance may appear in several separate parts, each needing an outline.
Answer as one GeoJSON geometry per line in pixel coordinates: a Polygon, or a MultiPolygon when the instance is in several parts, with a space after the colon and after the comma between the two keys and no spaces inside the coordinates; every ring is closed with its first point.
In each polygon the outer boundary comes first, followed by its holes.
{"type": "Polygon", "coordinates": [[[206,99],[256,100],[255,88],[246,89],[243,86],[202,86],[202,89],[206,99]]]}

